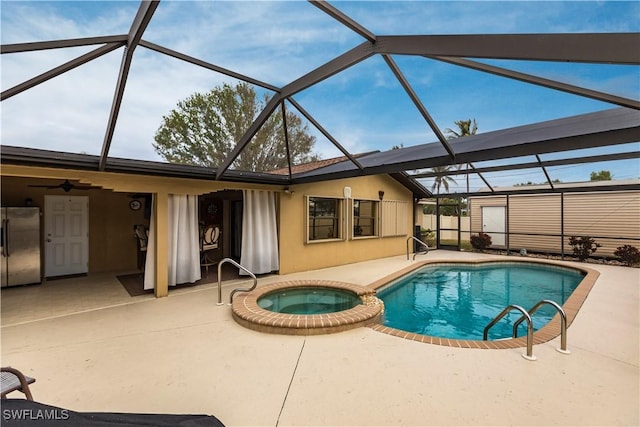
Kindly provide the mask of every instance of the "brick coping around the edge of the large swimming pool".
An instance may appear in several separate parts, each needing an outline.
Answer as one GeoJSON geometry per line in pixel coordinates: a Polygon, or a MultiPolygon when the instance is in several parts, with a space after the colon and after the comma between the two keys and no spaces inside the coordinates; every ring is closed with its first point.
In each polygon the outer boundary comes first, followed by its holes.
{"type": "MultiPolygon", "coordinates": [[[[465,261],[438,260],[438,261],[422,261],[416,264],[411,264],[410,266],[402,270],[396,271],[393,274],[390,274],[380,280],[376,280],[375,282],[370,283],[368,287],[371,290],[378,290],[388,285],[389,283],[393,282],[394,280],[397,280],[398,278],[427,265],[439,265],[439,264],[460,265],[460,264],[482,264],[482,263],[505,264],[505,263],[518,263],[518,262],[527,263],[527,264],[537,263],[537,264],[551,265],[551,266],[557,266],[557,267],[571,268],[571,269],[578,270],[585,273],[585,276],[582,278],[582,281],[578,284],[576,289],[571,293],[569,298],[562,305],[562,308],[567,316],[567,328],[569,327],[569,325],[571,325],[571,323],[575,319],[576,315],[578,314],[578,311],[580,310],[580,307],[582,307],[582,304],[586,300],[587,295],[589,295],[589,292],[593,288],[593,285],[596,283],[596,279],[600,276],[600,273],[598,271],[587,268],[587,267],[582,267],[582,266],[577,267],[577,266],[568,265],[562,262],[547,261],[547,260],[543,261],[543,260],[529,259],[529,258],[517,259],[517,260],[516,259],[508,260],[504,258],[484,259],[484,260],[465,260],[465,261]]],[[[428,335],[414,334],[413,332],[407,332],[399,329],[390,328],[388,326],[382,325],[381,323],[370,324],[368,326],[376,331],[393,335],[396,337],[400,337],[400,338],[404,338],[412,341],[419,341],[427,344],[444,345],[449,347],[478,348],[478,349],[507,349],[507,348],[526,347],[527,345],[526,336],[519,337],[519,338],[498,340],[498,341],[457,340],[453,338],[440,338],[440,337],[432,337],[428,335]]],[[[535,344],[551,341],[552,339],[556,338],[559,335],[560,335],[560,315],[556,314],[549,323],[547,323],[541,329],[533,333],[533,344],[535,345],[535,344]]]]}

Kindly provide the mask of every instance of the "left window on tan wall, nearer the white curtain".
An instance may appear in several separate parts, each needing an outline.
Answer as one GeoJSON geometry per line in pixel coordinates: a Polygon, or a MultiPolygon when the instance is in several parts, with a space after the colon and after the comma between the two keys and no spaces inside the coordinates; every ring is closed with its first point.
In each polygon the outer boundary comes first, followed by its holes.
{"type": "Polygon", "coordinates": [[[308,197],[307,241],[342,238],[342,200],[308,197]]]}

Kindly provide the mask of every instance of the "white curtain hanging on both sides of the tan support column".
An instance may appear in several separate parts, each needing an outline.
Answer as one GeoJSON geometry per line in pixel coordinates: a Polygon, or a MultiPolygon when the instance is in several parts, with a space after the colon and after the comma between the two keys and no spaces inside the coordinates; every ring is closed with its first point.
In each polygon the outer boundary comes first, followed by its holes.
{"type": "MultiPolygon", "coordinates": [[[[167,216],[169,286],[200,280],[198,196],[170,194],[167,216]]],[[[155,287],[155,228],[156,224],[152,216],[147,244],[145,289],[155,287]]]]}

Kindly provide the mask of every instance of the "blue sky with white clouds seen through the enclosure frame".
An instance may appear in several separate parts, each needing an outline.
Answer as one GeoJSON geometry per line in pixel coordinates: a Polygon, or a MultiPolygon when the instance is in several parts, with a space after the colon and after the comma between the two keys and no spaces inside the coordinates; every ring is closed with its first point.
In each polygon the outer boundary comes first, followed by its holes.
{"type": "MultiPolygon", "coordinates": [[[[637,1],[331,4],[377,35],[640,31],[637,1]]],[[[138,6],[137,1],[2,0],[0,37],[2,44],[10,44],[126,34],[138,6]]],[[[364,41],[304,1],[161,1],[143,39],[275,86],[288,84],[364,41]]],[[[95,48],[2,55],[2,90],[95,48]]],[[[122,55],[123,49],[118,49],[3,101],[2,144],[99,155],[122,55]]],[[[455,128],[456,120],[475,119],[481,133],[616,107],[423,57],[395,55],[393,59],[442,131],[455,128]]],[[[640,99],[638,66],[485,62],[640,99]]],[[[235,84],[236,80],[138,47],[109,155],[160,161],[152,144],[162,117],[180,100],[225,82],[235,84]]],[[[437,140],[380,56],[294,99],[351,153],[437,140]]],[[[309,129],[317,137],[314,150],[320,157],[341,155],[313,125],[309,129]]],[[[640,144],[614,149],[639,151],[640,144]]],[[[584,155],[611,150],[586,150],[584,155]]],[[[637,159],[562,166],[549,172],[552,179],[574,182],[587,181],[590,172],[603,169],[610,170],[614,179],[640,177],[637,159]]],[[[497,186],[545,181],[540,169],[494,173],[487,178],[497,186]]],[[[423,184],[430,186],[432,181],[426,179],[423,184]]],[[[457,181],[462,185],[465,179],[457,181]]],[[[471,187],[483,186],[477,177],[470,181],[471,187]]]]}

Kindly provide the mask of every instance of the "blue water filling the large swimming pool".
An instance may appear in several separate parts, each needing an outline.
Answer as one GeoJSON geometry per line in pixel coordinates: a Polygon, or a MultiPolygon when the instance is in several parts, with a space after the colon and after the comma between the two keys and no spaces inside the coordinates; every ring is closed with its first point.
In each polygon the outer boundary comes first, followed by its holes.
{"type": "MultiPolygon", "coordinates": [[[[564,304],[582,281],[582,272],[532,263],[439,264],[426,266],[378,291],[384,324],[416,334],[482,340],[484,328],[510,304],[525,310],[543,299],[564,304]]],[[[534,330],[557,313],[548,305],[532,315],[534,330]]],[[[512,310],[489,331],[488,339],[511,338],[522,314],[512,310]]],[[[522,322],[518,336],[526,335],[522,322]]]]}

